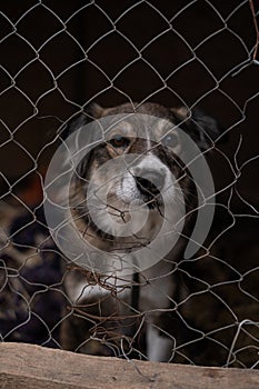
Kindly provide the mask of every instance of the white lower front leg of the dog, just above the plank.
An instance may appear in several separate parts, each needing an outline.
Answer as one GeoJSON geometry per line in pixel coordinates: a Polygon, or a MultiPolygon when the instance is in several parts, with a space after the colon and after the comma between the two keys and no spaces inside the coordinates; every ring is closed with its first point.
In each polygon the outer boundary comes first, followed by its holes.
{"type": "Polygon", "coordinates": [[[150,361],[168,362],[172,356],[173,340],[160,335],[152,323],[147,326],[147,356],[150,361]]]}

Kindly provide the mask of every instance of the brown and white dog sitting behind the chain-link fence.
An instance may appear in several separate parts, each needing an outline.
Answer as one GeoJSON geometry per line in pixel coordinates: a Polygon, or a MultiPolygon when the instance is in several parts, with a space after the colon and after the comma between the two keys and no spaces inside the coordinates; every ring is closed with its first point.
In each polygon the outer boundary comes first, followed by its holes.
{"type": "MultiPolygon", "coordinates": [[[[109,263],[91,269],[71,261],[68,267],[64,292],[70,309],[61,325],[61,346],[93,355],[171,361],[176,337],[168,330],[167,313],[177,309],[176,271],[198,206],[197,188],[181,160],[182,137],[187,134],[202,154],[213,148],[219,126],[186,107],[92,104],[60,136],[66,141],[77,131],[94,147],[74,168],[70,211],[81,239],[104,252],[100,263],[109,263]],[[108,128],[103,128],[106,120],[108,128]],[[94,128],[89,130],[91,123],[94,128]],[[165,220],[171,235],[157,239],[165,220]],[[156,239],[153,248],[150,242],[156,239]],[[137,258],[139,251],[143,253],[137,258]]],[[[91,252],[87,255],[91,260],[91,252]]]]}

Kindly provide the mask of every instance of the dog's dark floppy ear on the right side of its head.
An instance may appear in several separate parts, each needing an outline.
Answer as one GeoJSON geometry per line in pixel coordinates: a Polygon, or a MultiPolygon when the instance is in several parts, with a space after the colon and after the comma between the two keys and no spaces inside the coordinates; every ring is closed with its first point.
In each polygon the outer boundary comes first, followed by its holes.
{"type": "Polygon", "coordinates": [[[211,148],[217,138],[223,132],[222,127],[212,117],[196,108],[192,111],[186,107],[172,108],[171,112],[177,124],[188,133],[205,151],[211,148]]]}

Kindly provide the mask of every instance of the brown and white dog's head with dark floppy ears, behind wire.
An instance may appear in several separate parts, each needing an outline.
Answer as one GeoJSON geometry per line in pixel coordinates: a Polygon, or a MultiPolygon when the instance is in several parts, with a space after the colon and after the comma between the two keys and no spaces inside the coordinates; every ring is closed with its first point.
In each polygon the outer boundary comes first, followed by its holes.
{"type": "Polygon", "coordinates": [[[130,243],[135,246],[132,241],[141,240],[143,245],[142,239],[153,239],[167,217],[165,203],[170,203],[173,226],[182,216],[179,208],[195,207],[193,182],[181,160],[186,151],[183,134],[197,143],[200,152],[212,147],[219,134],[217,122],[200,111],[190,113],[186,108],[168,109],[155,103],[109,109],[93,104],[66,131],[71,134],[79,129],[89,131],[86,139],[90,143],[96,142],[94,131],[101,129],[101,136],[77,167],[72,193],[76,218],[83,221],[89,236],[94,233],[102,242],[123,241],[127,249],[130,243]],[[89,118],[96,122],[91,130],[86,126],[89,118]],[[137,231],[133,225],[130,227],[132,233],[127,240],[123,227],[129,226],[133,208],[137,226],[141,226],[147,209],[149,216],[145,228],[137,231]],[[114,239],[118,226],[121,233],[114,239]]]}

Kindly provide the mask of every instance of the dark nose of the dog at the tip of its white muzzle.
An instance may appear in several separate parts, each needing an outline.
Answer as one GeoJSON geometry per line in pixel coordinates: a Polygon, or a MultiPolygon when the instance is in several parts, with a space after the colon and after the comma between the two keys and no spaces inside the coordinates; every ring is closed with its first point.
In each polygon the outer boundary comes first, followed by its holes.
{"type": "Polygon", "coordinates": [[[165,174],[155,170],[137,170],[135,179],[140,191],[146,191],[155,196],[159,194],[165,184],[165,174]]]}

